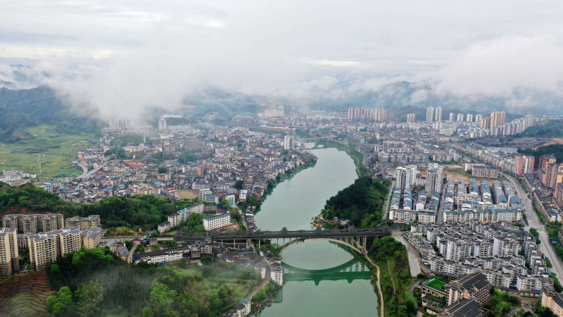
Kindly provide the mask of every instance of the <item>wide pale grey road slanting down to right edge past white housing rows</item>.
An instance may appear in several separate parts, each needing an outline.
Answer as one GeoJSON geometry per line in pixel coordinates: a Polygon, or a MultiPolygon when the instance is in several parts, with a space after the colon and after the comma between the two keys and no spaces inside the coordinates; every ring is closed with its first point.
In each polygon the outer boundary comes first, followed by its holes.
{"type": "Polygon", "coordinates": [[[545,230],[545,226],[541,223],[540,218],[538,218],[538,214],[536,211],[533,210],[533,206],[531,200],[528,198],[528,194],[524,191],[524,188],[520,185],[520,182],[515,180],[511,175],[507,175],[502,173],[502,175],[510,182],[510,185],[516,189],[518,193],[518,197],[521,199],[522,204],[524,205],[524,209],[526,212],[526,219],[528,220],[528,225],[524,227],[524,230],[530,231],[530,228],[535,228],[538,230],[540,234],[541,243],[538,245],[540,251],[551,261],[552,268],[550,270],[557,274],[557,278],[563,277],[563,263],[561,258],[555,253],[551,245],[550,238],[548,236],[548,232],[545,230]]]}

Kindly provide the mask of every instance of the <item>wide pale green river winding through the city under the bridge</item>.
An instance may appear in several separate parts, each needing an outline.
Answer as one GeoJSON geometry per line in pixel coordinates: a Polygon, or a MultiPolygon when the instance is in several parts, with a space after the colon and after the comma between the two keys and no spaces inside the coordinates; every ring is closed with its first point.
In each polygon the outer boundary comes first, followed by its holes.
{"type": "MultiPolygon", "coordinates": [[[[255,216],[258,228],[311,229],[312,217],[320,213],[327,199],[357,178],[354,162],[346,152],[315,149],[312,153],[318,158],[314,167],[279,183],[267,196],[255,216]]],[[[281,256],[286,270],[288,266],[304,270],[284,273],[277,302],[260,316],[377,316],[369,272],[343,247],[306,242],[286,249],[281,256]],[[334,267],[339,268],[331,270],[334,267]]]]}

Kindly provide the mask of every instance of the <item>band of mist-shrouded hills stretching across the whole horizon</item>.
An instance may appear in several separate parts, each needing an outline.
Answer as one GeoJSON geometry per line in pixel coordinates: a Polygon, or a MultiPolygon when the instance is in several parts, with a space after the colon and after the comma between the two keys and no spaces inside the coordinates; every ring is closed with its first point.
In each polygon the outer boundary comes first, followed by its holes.
{"type": "MultiPolygon", "coordinates": [[[[127,116],[146,118],[146,113],[153,112],[154,108],[161,112],[234,116],[258,113],[262,108],[277,105],[286,106],[288,111],[343,112],[350,106],[365,106],[388,108],[398,120],[404,120],[406,113],[416,113],[417,119],[421,120],[426,116],[427,106],[441,106],[445,116],[449,112],[486,114],[493,110],[505,110],[516,117],[526,114],[550,118],[563,116],[563,95],[557,90],[513,88],[502,94],[460,95],[442,89],[439,82],[432,80],[398,80],[367,74],[324,75],[305,80],[299,89],[277,89],[268,93],[241,92],[202,84],[181,94],[177,103],[167,102],[166,92],[163,92],[160,103],[158,98],[146,104],[127,102],[127,97],[118,107],[90,101],[88,97],[73,97],[80,90],[73,92],[72,87],[58,87],[49,81],[50,78],[51,73],[39,72],[32,66],[18,64],[0,68],[0,109],[6,113],[0,118],[0,141],[14,142],[25,137],[25,128],[40,124],[56,125],[59,132],[99,131],[99,125],[106,122],[110,111],[119,110],[127,116]],[[41,82],[48,84],[39,85],[41,82]]],[[[122,94],[134,92],[123,91],[122,94]]],[[[96,98],[103,100],[103,97],[96,98]]]]}

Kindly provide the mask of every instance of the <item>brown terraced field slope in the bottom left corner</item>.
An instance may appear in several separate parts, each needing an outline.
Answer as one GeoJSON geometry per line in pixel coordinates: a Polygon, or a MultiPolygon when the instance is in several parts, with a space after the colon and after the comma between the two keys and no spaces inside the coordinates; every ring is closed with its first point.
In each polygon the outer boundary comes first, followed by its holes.
{"type": "Polygon", "coordinates": [[[49,316],[46,299],[51,294],[45,270],[0,277],[0,316],[49,316]]]}

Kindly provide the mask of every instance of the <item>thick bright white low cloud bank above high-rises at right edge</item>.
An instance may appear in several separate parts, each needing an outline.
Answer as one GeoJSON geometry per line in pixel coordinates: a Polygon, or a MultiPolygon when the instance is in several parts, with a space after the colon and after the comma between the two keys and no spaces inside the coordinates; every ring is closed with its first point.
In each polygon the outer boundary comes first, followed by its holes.
{"type": "Polygon", "coordinates": [[[563,97],[562,35],[503,37],[475,44],[438,70],[436,92],[510,97],[516,89],[530,89],[563,97]]]}

